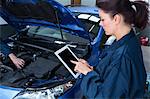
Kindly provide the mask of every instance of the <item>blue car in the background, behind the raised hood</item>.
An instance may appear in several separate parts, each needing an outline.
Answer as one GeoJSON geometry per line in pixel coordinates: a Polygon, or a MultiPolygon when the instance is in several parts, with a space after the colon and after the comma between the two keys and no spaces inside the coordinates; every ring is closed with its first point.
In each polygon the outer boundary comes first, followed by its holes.
{"type": "Polygon", "coordinates": [[[66,6],[83,24],[86,31],[95,38],[99,31],[99,13],[97,7],[85,5],[67,5],[66,6]]]}

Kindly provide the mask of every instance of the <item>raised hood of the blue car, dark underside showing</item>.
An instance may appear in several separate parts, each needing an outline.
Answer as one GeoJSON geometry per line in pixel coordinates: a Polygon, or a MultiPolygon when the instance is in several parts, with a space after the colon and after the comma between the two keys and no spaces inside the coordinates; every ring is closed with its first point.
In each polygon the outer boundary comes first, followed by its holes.
{"type": "Polygon", "coordinates": [[[54,0],[0,0],[0,15],[18,30],[33,24],[55,26],[89,39],[75,16],[54,0]]]}

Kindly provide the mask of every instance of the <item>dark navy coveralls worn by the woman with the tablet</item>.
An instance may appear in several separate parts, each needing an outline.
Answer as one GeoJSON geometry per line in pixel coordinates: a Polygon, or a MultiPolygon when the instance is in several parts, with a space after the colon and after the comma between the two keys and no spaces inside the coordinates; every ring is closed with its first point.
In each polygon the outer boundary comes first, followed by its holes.
{"type": "Polygon", "coordinates": [[[146,71],[141,46],[133,30],[102,51],[94,70],[83,77],[81,89],[90,99],[142,98],[146,71]]]}

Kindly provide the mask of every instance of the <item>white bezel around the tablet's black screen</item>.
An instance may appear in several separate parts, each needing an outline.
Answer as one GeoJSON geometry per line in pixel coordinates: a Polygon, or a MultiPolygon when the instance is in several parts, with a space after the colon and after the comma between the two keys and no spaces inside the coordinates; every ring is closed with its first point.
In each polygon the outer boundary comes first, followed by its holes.
{"type": "Polygon", "coordinates": [[[77,56],[71,51],[71,49],[69,48],[69,45],[65,45],[64,47],[62,47],[62,48],[60,48],[59,50],[57,50],[56,52],[54,52],[54,54],[58,57],[58,59],[63,63],[63,65],[68,69],[68,71],[72,74],[72,76],[74,77],[74,78],[78,78],[78,76],[81,74],[81,73],[74,73],[71,69],[70,69],[70,67],[64,62],[64,60],[60,57],[60,53],[61,52],[63,52],[64,50],[66,50],[66,49],[68,49],[69,50],[69,52],[77,59],[77,60],[79,60],[78,58],[77,58],[77,56]]]}

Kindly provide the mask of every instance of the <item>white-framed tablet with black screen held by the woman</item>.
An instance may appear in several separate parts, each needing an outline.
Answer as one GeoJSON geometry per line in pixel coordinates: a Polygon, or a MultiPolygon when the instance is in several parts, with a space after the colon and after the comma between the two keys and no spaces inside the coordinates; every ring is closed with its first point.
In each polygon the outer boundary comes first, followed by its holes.
{"type": "Polygon", "coordinates": [[[69,45],[62,47],[55,52],[58,59],[64,64],[68,71],[74,78],[78,78],[80,73],[74,71],[75,64],[71,63],[70,60],[78,61],[77,56],[71,51],[69,45]]]}

